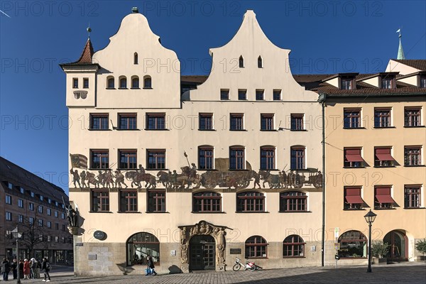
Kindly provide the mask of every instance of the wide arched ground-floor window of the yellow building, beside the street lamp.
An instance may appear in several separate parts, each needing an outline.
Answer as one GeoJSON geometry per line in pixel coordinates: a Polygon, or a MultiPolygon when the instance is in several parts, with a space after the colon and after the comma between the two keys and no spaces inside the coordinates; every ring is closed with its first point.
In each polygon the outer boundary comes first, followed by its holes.
{"type": "Polygon", "coordinates": [[[366,258],[367,238],[361,231],[346,231],[338,240],[341,258],[366,258]]]}

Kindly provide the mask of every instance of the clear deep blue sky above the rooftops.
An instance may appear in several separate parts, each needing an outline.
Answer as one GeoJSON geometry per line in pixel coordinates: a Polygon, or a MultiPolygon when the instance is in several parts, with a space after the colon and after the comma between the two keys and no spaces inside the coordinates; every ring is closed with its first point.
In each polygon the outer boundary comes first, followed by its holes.
{"type": "Polygon", "coordinates": [[[426,59],[425,1],[1,1],[1,156],[67,192],[58,64],[80,57],[89,23],[94,50],[104,48],[133,6],[178,54],[183,75],[208,75],[209,48],[232,38],[246,9],[275,45],[292,50],[293,74],[382,72],[396,58],[398,28],[405,57],[426,59]]]}

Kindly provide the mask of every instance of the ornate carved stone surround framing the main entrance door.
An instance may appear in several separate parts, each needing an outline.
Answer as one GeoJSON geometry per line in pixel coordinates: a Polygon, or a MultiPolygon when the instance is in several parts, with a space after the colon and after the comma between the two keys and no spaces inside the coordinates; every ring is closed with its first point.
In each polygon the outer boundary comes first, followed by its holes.
{"type": "Polygon", "coordinates": [[[182,271],[189,272],[190,239],[192,236],[212,236],[216,242],[216,271],[225,271],[226,226],[215,226],[204,220],[195,225],[179,226],[180,229],[180,261],[182,271]]]}

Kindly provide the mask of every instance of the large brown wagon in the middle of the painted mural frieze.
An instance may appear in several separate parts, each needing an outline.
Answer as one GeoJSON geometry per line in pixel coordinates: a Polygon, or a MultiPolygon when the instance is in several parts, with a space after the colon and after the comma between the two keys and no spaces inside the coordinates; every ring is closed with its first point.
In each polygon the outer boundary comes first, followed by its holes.
{"type": "Polygon", "coordinates": [[[207,189],[213,189],[218,185],[219,187],[234,187],[237,189],[246,188],[256,174],[251,170],[251,165],[247,161],[245,170],[229,170],[228,158],[215,158],[214,164],[216,170],[209,170],[201,175],[202,186],[207,189]]]}

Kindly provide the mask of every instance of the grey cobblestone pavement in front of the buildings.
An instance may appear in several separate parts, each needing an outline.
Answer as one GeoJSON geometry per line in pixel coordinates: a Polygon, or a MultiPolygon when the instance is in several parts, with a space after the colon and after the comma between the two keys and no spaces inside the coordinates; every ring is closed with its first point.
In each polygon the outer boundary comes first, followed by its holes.
{"type": "MultiPolygon", "coordinates": [[[[271,284],[271,283],[403,283],[425,284],[426,263],[396,263],[373,266],[372,273],[366,267],[309,267],[283,268],[263,271],[202,272],[173,275],[121,275],[108,277],[72,277],[70,273],[52,273],[51,283],[99,283],[99,284],[271,284]]],[[[13,280],[9,280],[13,281],[13,280]]],[[[13,283],[13,282],[9,282],[13,283]]],[[[22,283],[43,283],[41,279],[22,280],[22,283]]]]}

